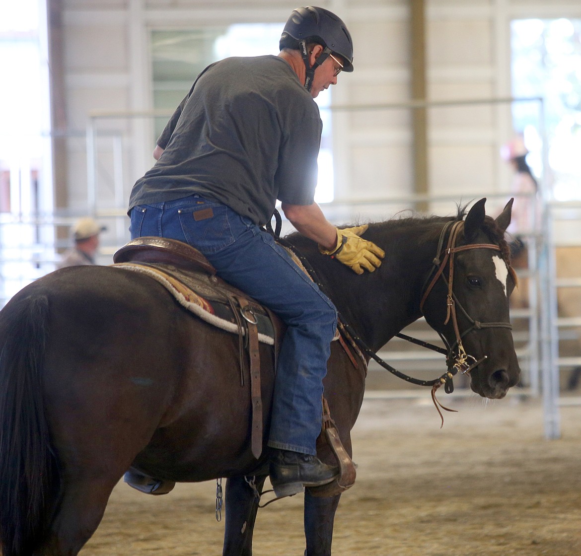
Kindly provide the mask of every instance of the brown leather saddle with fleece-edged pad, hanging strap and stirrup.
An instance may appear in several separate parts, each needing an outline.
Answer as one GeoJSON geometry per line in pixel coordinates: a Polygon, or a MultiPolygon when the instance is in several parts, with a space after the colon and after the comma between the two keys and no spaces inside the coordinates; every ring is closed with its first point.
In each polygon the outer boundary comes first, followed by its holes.
{"type": "MultiPolygon", "coordinates": [[[[227,284],[216,275],[216,269],[205,256],[194,247],[174,239],[144,237],[137,238],[121,247],[113,256],[113,267],[141,272],[155,279],[172,293],[185,308],[209,324],[237,333],[240,342],[241,385],[244,385],[246,350],[248,350],[250,392],[252,399],[251,445],[257,459],[262,451],[263,408],[260,388],[259,342],[272,345],[276,359],[280,338],[284,333],[282,321],[266,307],[257,304],[245,293],[227,284]],[[242,318],[241,318],[242,317],[242,318]]],[[[346,332],[341,330],[342,334],[346,332]]],[[[340,344],[345,349],[354,367],[356,358],[349,350],[341,334],[340,344]]],[[[347,337],[351,344],[350,338],[347,337]]],[[[363,364],[365,360],[357,353],[363,364]]],[[[341,475],[331,487],[310,489],[314,496],[332,496],[326,490],[335,488],[334,494],[343,492],[354,482],[355,467],[339,439],[338,431],[324,400],[321,434],[325,436],[336,460],[341,475]]]]}

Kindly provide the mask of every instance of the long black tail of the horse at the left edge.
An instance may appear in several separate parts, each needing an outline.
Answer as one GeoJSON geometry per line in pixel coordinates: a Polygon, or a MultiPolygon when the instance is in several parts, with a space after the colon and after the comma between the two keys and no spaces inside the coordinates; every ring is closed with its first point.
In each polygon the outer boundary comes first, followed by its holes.
{"type": "Polygon", "coordinates": [[[48,299],[20,297],[0,311],[0,553],[30,554],[58,489],[42,370],[48,299]]]}

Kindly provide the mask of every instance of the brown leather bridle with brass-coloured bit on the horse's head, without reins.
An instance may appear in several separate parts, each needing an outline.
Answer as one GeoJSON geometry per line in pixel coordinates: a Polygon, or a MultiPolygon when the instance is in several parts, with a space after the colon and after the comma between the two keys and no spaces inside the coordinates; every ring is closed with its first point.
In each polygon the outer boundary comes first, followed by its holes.
{"type": "MultiPolygon", "coordinates": [[[[422,314],[424,314],[424,303],[428,296],[432,292],[433,287],[435,286],[438,279],[442,278],[443,281],[446,283],[448,288],[448,295],[446,297],[446,320],[444,320],[444,325],[448,324],[450,318],[452,319],[452,324],[454,328],[454,334],[456,335],[456,342],[450,345],[450,342],[444,337],[441,332],[438,332],[440,338],[444,342],[444,345],[447,347],[447,365],[448,365],[448,372],[440,378],[440,385],[442,383],[446,384],[445,390],[446,392],[451,392],[453,390],[452,385],[452,378],[457,372],[461,372],[461,374],[466,374],[470,372],[476,365],[479,365],[484,361],[487,356],[476,360],[474,356],[468,355],[464,350],[464,346],[462,345],[462,338],[467,335],[468,332],[473,330],[480,330],[483,328],[508,328],[512,329],[512,324],[510,322],[480,322],[474,320],[467,311],[462,307],[462,304],[458,301],[456,294],[454,294],[453,287],[454,287],[454,256],[456,253],[460,253],[462,251],[468,251],[469,249],[492,249],[494,251],[501,251],[498,245],[494,243],[471,243],[470,245],[460,245],[457,246],[456,243],[458,241],[458,234],[464,228],[464,221],[456,221],[456,222],[449,222],[447,223],[442,232],[440,232],[440,239],[438,242],[437,247],[437,254],[436,258],[433,260],[434,268],[426,282],[429,280],[430,277],[433,277],[431,281],[429,281],[428,286],[426,286],[424,290],[424,295],[422,296],[422,300],[419,303],[419,310],[422,314]],[[450,229],[450,234],[448,236],[448,243],[446,249],[442,250],[442,246],[444,243],[444,238],[446,237],[447,230],[450,229]],[[443,258],[440,259],[443,254],[443,258]],[[448,278],[444,275],[444,269],[448,266],[448,278]],[[435,272],[434,272],[435,271],[435,272]],[[457,317],[457,310],[460,309],[464,316],[468,319],[471,323],[464,332],[460,333],[460,328],[458,327],[458,317],[457,317]]],[[[509,272],[513,278],[515,278],[514,270],[511,266],[508,267],[509,272]]]]}

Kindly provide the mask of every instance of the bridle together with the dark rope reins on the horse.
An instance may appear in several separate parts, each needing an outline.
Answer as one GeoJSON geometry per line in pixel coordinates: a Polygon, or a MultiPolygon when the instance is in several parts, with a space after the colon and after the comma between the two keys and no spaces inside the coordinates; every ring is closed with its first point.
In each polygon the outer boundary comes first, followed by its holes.
{"type": "MultiPolygon", "coordinates": [[[[278,226],[277,226],[278,228],[278,226]]],[[[501,252],[501,248],[494,243],[472,243],[469,245],[461,245],[456,246],[456,242],[458,241],[458,234],[464,228],[464,221],[450,221],[442,228],[440,232],[440,237],[438,240],[437,246],[437,253],[435,259],[433,259],[433,268],[428,277],[426,278],[425,284],[428,284],[424,287],[424,293],[421,298],[421,302],[419,303],[419,310],[421,311],[422,315],[424,314],[424,304],[428,296],[432,292],[433,287],[436,285],[436,282],[442,278],[444,283],[447,286],[448,293],[446,296],[446,320],[444,321],[444,325],[448,324],[450,318],[452,320],[454,335],[456,335],[456,341],[450,345],[447,341],[445,336],[438,332],[440,338],[442,339],[446,349],[442,347],[435,346],[429,342],[424,342],[422,340],[418,340],[411,336],[407,336],[402,333],[397,333],[397,338],[401,338],[407,340],[408,342],[414,343],[416,345],[426,347],[428,349],[432,349],[433,351],[437,351],[437,353],[441,353],[446,356],[446,364],[447,364],[447,371],[440,376],[439,378],[433,380],[420,380],[414,378],[413,376],[409,376],[404,374],[403,372],[398,371],[396,368],[389,365],[381,357],[379,357],[374,351],[372,351],[367,345],[365,344],[364,340],[360,338],[354,329],[347,324],[347,322],[341,317],[339,314],[339,321],[341,322],[342,328],[351,336],[353,341],[359,347],[359,349],[369,358],[374,360],[380,367],[384,368],[385,370],[392,373],[397,378],[400,378],[406,382],[418,385],[418,386],[431,386],[432,387],[432,401],[436,406],[436,409],[442,419],[442,425],[444,424],[444,418],[440,408],[446,411],[456,411],[450,408],[444,407],[437,399],[436,399],[436,390],[440,388],[440,386],[444,385],[444,391],[446,393],[451,393],[454,391],[454,383],[453,378],[460,372],[461,374],[468,374],[472,369],[477,367],[482,361],[486,360],[487,356],[476,360],[475,357],[468,355],[464,350],[464,346],[462,345],[462,338],[467,335],[468,332],[473,330],[479,330],[483,328],[509,328],[512,329],[512,324],[510,322],[479,322],[475,321],[467,311],[462,307],[462,304],[458,301],[456,295],[453,292],[453,283],[454,283],[454,256],[456,253],[460,253],[463,251],[467,251],[469,249],[492,249],[495,251],[501,252]],[[446,248],[443,249],[444,241],[446,239],[447,231],[450,229],[450,233],[448,234],[448,241],[446,248]],[[442,257],[443,256],[443,257],[442,257]],[[440,259],[440,257],[442,257],[440,259]],[[446,266],[449,267],[448,270],[448,277],[444,275],[444,270],[446,266]],[[460,332],[460,328],[458,327],[458,319],[457,319],[457,310],[460,309],[462,314],[467,318],[469,323],[471,324],[469,328],[467,328],[464,332],[460,332]],[[456,350],[456,351],[455,351],[456,350]]],[[[303,264],[304,268],[309,272],[311,279],[321,288],[324,290],[321,282],[319,281],[316,272],[314,271],[313,267],[307,261],[307,259],[299,253],[296,248],[287,242],[285,239],[277,238],[277,241],[281,243],[282,246],[287,247],[288,249],[292,250],[293,253],[299,258],[301,263],[303,264]]],[[[514,273],[512,267],[509,266],[509,271],[511,274],[514,273]]]]}

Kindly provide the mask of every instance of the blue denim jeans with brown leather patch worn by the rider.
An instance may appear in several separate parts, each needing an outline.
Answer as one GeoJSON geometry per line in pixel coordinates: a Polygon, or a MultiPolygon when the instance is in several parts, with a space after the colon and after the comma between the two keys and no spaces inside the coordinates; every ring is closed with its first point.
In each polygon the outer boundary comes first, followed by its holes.
{"type": "Polygon", "coordinates": [[[274,311],[288,327],[275,378],[268,446],[314,455],[322,379],[337,311],[272,236],[199,195],[131,210],[131,238],[178,239],[205,254],[225,281],[274,311]]]}

